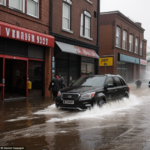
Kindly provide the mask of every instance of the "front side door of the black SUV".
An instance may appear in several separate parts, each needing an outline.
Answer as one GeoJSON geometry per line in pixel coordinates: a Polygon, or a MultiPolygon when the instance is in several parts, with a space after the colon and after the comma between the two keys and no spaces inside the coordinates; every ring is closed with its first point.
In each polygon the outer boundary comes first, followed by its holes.
{"type": "Polygon", "coordinates": [[[105,84],[105,95],[108,101],[115,100],[115,86],[114,86],[114,80],[112,77],[108,77],[105,84]],[[113,86],[108,86],[108,85],[113,86]]]}

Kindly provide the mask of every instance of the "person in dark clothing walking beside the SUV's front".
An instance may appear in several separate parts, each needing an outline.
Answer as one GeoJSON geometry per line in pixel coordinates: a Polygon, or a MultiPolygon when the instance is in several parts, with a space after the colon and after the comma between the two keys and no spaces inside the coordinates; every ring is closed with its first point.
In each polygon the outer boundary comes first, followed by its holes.
{"type": "Polygon", "coordinates": [[[57,97],[57,93],[58,91],[61,89],[61,82],[60,82],[60,78],[59,76],[55,76],[52,81],[50,82],[49,85],[49,90],[52,90],[53,93],[53,99],[52,101],[54,101],[57,97]]]}

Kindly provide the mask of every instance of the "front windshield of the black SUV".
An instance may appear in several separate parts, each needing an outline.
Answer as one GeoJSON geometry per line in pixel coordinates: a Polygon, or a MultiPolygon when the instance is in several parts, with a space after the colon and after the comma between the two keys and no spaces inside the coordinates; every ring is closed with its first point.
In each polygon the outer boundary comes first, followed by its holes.
{"type": "Polygon", "coordinates": [[[89,86],[89,87],[99,87],[103,86],[106,77],[81,77],[72,86],[89,86]]]}

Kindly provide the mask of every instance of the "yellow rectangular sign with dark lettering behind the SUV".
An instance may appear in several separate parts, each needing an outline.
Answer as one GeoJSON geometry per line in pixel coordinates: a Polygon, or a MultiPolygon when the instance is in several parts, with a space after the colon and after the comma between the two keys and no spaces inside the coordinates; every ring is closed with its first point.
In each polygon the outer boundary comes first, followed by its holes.
{"type": "Polygon", "coordinates": [[[113,57],[100,58],[99,66],[113,66],[113,57]]]}

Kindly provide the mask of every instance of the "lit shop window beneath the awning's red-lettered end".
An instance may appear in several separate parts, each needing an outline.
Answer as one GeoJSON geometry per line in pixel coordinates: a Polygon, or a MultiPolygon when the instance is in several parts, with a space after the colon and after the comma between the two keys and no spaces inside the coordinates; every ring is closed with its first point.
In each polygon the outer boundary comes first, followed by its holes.
{"type": "Polygon", "coordinates": [[[94,64],[92,63],[81,63],[81,75],[93,75],[94,74],[94,64]]]}

